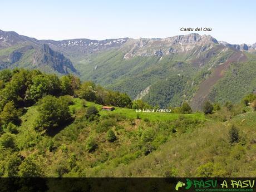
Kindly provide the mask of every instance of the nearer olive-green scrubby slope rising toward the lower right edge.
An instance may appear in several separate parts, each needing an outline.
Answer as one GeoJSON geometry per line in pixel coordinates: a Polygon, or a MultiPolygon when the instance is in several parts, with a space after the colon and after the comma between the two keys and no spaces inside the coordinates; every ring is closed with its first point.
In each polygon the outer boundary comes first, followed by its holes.
{"type": "MultiPolygon", "coordinates": [[[[160,149],[142,156],[129,165],[121,164],[102,176],[207,176],[199,172],[200,166],[210,164],[208,176],[244,177],[256,175],[255,145],[256,112],[236,116],[227,122],[208,121],[203,127],[182,136],[173,137],[160,149]],[[230,125],[240,132],[240,143],[231,145],[228,139],[230,125]]],[[[95,174],[95,173],[94,173],[95,174]]]]}

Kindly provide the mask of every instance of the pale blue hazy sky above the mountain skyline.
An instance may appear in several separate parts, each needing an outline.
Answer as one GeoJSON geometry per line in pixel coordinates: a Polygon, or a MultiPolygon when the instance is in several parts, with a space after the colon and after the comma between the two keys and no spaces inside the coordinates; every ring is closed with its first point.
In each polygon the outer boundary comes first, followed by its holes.
{"type": "Polygon", "coordinates": [[[208,27],[229,43],[256,42],[256,1],[0,1],[0,29],[37,39],[170,37],[208,27]]]}

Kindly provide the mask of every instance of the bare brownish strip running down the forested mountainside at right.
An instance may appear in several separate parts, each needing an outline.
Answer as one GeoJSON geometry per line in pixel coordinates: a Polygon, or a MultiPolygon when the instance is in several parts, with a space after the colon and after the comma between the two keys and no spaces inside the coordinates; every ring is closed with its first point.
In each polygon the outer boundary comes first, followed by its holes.
{"type": "Polygon", "coordinates": [[[215,85],[215,83],[220,80],[224,76],[224,72],[228,69],[230,63],[232,62],[241,62],[246,61],[247,57],[242,52],[235,52],[232,56],[228,58],[226,62],[222,65],[215,68],[214,72],[211,73],[209,78],[205,81],[201,82],[198,91],[196,92],[195,97],[191,101],[191,106],[194,110],[200,110],[204,101],[207,99],[211,88],[215,85]]]}

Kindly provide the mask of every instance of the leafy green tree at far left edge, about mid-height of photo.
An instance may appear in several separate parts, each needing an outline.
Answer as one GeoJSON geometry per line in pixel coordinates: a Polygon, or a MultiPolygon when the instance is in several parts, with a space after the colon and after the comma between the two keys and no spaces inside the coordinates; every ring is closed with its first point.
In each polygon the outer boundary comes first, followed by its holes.
{"type": "Polygon", "coordinates": [[[9,101],[4,107],[3,111],[1,112],[1,121],[2,124],[9,124],[9,122],[12,122],[14,124],[19,123],[19,112],[18,110],[14,107],[14,102],[9,101]]]}

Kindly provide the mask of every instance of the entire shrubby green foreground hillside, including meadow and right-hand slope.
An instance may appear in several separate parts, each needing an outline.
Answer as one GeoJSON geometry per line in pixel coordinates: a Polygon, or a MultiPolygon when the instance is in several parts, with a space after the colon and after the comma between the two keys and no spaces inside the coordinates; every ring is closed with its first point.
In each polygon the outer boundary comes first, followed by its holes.
{"type": "MultiPolygon", "coordinates": [[[[74,99],[70,110],[83,111],[83,103],[83,100],[74,99]]],[[[101,109],[101,105],[86,102],[86,106],[90,105],[101,109]]],[[[72,154],[76,155],[80,170],[71,170],[66,176],[203,176],[198,169],[208,163],[212,164],[211,176],[255,176],[252,168],[256,165],[256,112],[247,111],[226,122],[214,116],[208,116],[205,121],[203,114],[185,115],[187,126],[184,129],[178,114],[141,113],[139,120],[134,110],[116,107],[112,112],[100,111],[102,125],[109,121],[110,114],[132,117],[135,125],[131,125],[129,119],[115,120],[109,129],[115,131],[118,139],[110,143],[105,139],[106,132],[96,132],[101,124],[80,120],[55,136],[41,135],[33,129],[38,115],[36,106],[33,106],[22,116],[17,140],[22,155],[36,154],[38,161],[47,165],[47,176],[57,176],[56,170],[60,167],[68,168],[72,154]],[[143,121],[145,117],[150,121],[143,121]],[[201,123],[190,125],[189,119],[201,123]],[[229,143],[228,131],[232,124],[239,129],[239,144],[229,143]],[[169,129],[168,125],[176,127],[178,132],[172,133],[173,128],[169,129]],[[155,140],[151,143],[156,150],[147,156],[142,152],[145,144],[141,143],[141,133],[146,129],[156,131],[155,140]],[[86,151],[90,136],[95,137],[98,144],[93,153],[86,151]],[[50,142],[55,146],[52,152],[48,150],[50,142]]],[[[227,113],[220,111],[219,115],[227,113]]]]}

